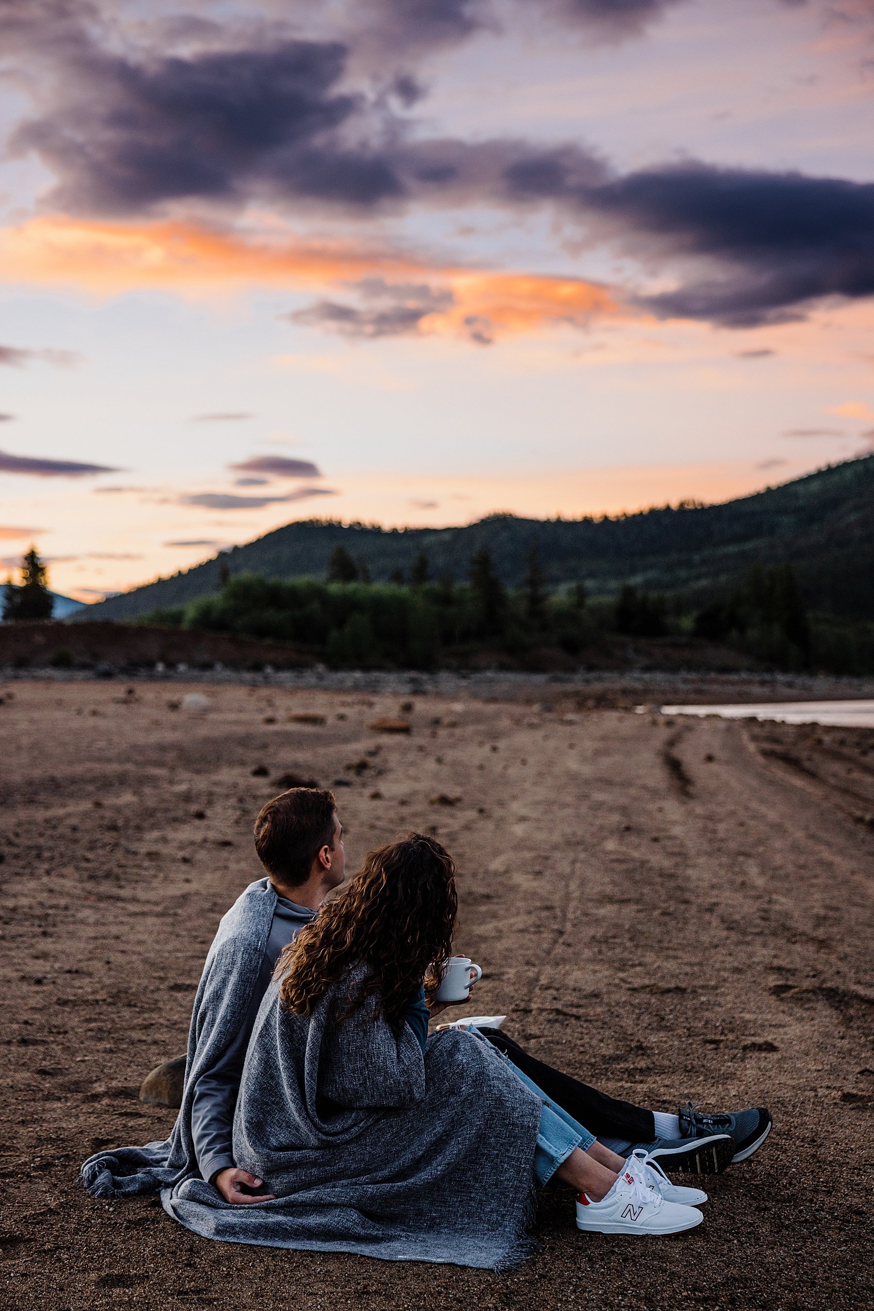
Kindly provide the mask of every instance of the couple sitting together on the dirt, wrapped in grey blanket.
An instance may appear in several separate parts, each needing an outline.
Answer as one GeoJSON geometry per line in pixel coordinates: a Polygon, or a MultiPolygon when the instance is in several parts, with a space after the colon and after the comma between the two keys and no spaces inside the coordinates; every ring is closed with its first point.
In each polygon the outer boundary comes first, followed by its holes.
{"type": "Polygon", "coordinates": [[[761,1109],[642,1110],[497,1029],[428,1037],[452,952],[455,865],[432,838],[372,852],[345,891],[330,792],[256,822],[267,877],[223,918],[194,1000],[166,1142],[98,1152],[96,1197],[161,1190],[206,1238],[498,1269],[531,1248],[535,1186],[578,1194],[580,1230],[675,1234],[764,1142],[761,1109]]]}

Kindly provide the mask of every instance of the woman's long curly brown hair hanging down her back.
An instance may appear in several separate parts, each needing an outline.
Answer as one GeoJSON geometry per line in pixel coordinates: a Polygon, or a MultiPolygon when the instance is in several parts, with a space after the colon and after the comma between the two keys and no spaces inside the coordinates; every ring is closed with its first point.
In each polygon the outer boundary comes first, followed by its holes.
{"type": "Polygon", "coordinates": [[[455,861],[434,838],[413,832],[372,851],[346,891],[279,957],[274,978],[280,981],[280,1004],[312,1015],[345,970],[364,962],[370,974],[341,1019],[379,991],[380,1013],[398,1032],[401,1012],[419,985],[425,982],[427,992],[436,988],[452,952],[456,911],[455,861]]]}

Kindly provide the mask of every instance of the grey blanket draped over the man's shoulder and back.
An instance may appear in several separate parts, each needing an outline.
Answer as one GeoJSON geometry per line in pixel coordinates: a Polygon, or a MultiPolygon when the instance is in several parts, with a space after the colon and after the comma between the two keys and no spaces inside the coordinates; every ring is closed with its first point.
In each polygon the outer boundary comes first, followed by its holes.
{"type": "Polygon", "coordinates": [[[223,916],[194,998],[182,1105],[173,1131],[165,1142],[117,1147],[90,1156],[83,1165],[83,1183],[94,1197],[152,1193],[174,1188],[186,1179],[200,1179],[191,1137],[194,1087],[240,1032],[258,981],[275,906],[276,893],[270,880],[259,878],[223,916]]]}

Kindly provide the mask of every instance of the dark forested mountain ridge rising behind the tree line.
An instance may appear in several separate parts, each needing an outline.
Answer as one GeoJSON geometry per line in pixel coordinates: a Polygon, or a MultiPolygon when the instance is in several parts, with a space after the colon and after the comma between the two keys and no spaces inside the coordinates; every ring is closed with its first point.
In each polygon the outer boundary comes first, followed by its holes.
{"type": "Polygon", "coordinates": [[[324,578],[339,544],[385,581],[409,577],[425,551],[432,578],[468,577],[486,547],[508,585],[523,577],[536,543],[549,585],[583,582],[609,595],[630,582],[705,602],[753,565],[790,564],[814,611],[874,619],[874,455],[837,464],[725,505],[653,509],[604,519],[491,515],[463,528],[387,530],[308,520],[276,528],[186,573],[161,578],[76,614],[134,619],[219,590],[221,570],[267,578],[324,578]]]}

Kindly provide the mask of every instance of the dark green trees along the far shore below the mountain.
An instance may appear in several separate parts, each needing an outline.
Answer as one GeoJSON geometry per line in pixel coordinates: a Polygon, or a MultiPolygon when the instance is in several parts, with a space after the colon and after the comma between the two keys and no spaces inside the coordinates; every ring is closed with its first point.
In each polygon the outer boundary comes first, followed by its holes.
{"type": "MultiPolygon", "coordinates": [[[[52,597],[46,566],[31,548],[21,585],[9,579],[4,621],[50,619],[52,597]]],[[[874,670],[874,627],[808,615],[789,565],[755,566],[743,582],[693,604],[625,583],[616,597],[590,597],[586,583],[550,586],[537,543],[523,577],[508,587],[487,547],[469,557],[466,578],[434,578],[425,551],[409,570],[371,582],[367,565],[335,545],[324,579],[231,574],[220,566],[220,589],[140,624],[207,629],[294,642],[329,665],[427,669],[484,658],[548,666],[550,652],[598,663],[611,638],[698,640],[729,646],[777,669],[874,670]]]]}

